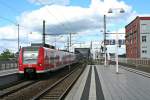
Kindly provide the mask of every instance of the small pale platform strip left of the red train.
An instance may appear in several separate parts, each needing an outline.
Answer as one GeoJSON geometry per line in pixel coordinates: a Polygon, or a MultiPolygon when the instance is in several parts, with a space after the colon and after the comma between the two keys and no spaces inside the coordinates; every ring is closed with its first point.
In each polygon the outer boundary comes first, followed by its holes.
{"type": "Polygon", "coordinates": [[[15,74],[18,73],[18,69],[7,69],[7,70],[0,70],[0,77],[1,76],[6,76],[6,75],[11,75],[11,74],[15,74]]]}

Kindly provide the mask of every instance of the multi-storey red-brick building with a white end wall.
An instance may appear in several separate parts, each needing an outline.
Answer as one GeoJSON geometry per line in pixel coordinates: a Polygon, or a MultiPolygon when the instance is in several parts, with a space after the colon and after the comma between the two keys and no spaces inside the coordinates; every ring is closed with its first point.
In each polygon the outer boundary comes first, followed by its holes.
{"type": "Polygon", "coordinates": [[[125,26],[128,58],[150,58],[150,17],[137,16],[125,26]]]}

